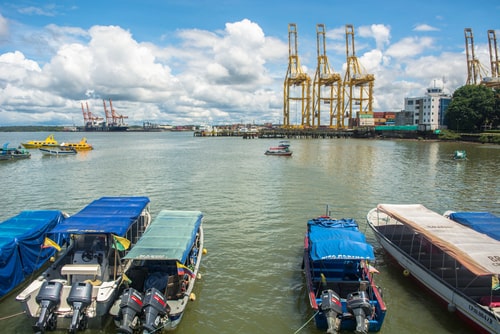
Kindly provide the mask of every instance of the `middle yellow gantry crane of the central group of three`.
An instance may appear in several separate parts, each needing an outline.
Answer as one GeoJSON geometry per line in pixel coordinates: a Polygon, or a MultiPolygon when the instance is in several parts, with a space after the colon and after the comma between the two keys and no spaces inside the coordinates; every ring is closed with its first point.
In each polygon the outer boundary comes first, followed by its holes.
{"type": "Polygon", "coordinates": [[[312,127],[321,126],[321,106],[328,106],[330,128],[343,128],[344,113],[342,112],[342,79],[334,73],[326,56],[326,28],[324,24],[316,25],[318,65],[313,82],[312,127]],[[335,122],[334,122],[335,121],[335,122]]]}

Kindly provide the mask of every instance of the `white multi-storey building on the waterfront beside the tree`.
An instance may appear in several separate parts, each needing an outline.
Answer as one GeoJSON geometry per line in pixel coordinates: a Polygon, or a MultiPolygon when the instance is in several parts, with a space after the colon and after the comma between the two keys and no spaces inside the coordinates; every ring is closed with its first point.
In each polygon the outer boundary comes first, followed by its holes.
{"type": "Polygon", "coordinates": [[[413,125],[421,131],[433,131],[443,127],[444,113],[451,101],[451,95],[442,88],[427,88],[423,97],[406,97],[404,111],[413,113],[413,125]]]}

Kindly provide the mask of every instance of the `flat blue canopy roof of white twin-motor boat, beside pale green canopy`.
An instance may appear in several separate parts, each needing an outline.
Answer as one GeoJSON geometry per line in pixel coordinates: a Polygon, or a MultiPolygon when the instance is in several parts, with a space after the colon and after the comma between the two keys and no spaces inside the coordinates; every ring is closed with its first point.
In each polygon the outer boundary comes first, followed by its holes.
{"type": "Polygon", "coordinates": [[[52,233],[112,233],[124,236],[148,203],[147,197],[102,197],[57,225],[52,233]]]}

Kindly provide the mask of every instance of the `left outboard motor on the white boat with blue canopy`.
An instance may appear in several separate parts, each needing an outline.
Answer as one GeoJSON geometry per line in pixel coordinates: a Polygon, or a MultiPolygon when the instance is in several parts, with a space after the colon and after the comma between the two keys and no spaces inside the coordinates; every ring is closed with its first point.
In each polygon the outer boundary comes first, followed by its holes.
{"type": "Polygon", "coordinates": [[[55,330],[57,327],[57,315],[54,311],[61,303],[62,283],[57,281],[45,281],[36,296],[36,302],[40,305],[40,316],[33,326],[35,332],[44,333],[45,330],[55,330]]]}

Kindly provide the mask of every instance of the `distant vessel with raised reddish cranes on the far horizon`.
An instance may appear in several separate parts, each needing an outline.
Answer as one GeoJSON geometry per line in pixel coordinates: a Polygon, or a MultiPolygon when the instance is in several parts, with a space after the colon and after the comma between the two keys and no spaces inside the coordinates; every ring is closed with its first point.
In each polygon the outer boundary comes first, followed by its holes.
{"type": "Polygon", "coordinates": [[[83,114],[83,127],[78,127],[79,131],[127,131],[128,124],[125,123],[124,119],[128,118],[128,116],[123,116],[118,114],[115,109],[113,109],[113,102],[111,99],[109,100],[109,106],[111,111],[108,111],[106,107],[106,101],[102,100],[104,105],[104,114],[106,115],[106,120],[102,117],[94,115],[89,110],[88,103],[85,103],[87,106],[87,111],[83,108],[82,103],[82,114],[83,114]]]}

